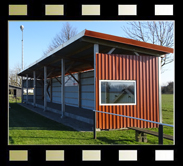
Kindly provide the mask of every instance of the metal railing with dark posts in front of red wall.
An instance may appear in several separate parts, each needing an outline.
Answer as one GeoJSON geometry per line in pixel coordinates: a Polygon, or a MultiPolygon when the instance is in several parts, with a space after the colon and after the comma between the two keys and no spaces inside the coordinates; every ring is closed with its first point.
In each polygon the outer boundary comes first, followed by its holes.
{"type": "MultiPolygon", "coordinates": [[[[109,113],[109,112],[103,112],[103,111],[97,111],[93,110],[94,112],[99,112],[99,113],[104,113],[104,114],[111,114],[111,115],[116,115],[116,116],[122,116],[126,118],[131,118],[131,119],[136,119],[136,120],[142,120],[146,122],[151,122],[151,123],[156,123],[159,124],[159,144],[163,144],[163,126],[169,126],[169,127],[174,127],[173,125],[170,124],[165,124],[165,123],[160,123],[160,122],[155,122],[155,121],[150,121],[146,119],[141,119],[141,118],[136,118],[136,117],[131,117],[131,116],[126,116],[126,115],[119,115],[119,114],[114,114],[114,113],[109,113]]],[[[96,139],[96,113],[95,113],[95,121],[94,121],[94,139],[96,139]]]]}

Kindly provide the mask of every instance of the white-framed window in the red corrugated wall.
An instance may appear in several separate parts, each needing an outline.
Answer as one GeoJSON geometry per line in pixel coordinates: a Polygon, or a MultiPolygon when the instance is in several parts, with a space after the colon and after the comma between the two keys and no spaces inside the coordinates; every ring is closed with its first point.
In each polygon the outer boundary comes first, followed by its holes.
{"type": "Polygon", "coordinates": [[[100,105],[136,105],[136,80],[99,80],[100,105]]]}

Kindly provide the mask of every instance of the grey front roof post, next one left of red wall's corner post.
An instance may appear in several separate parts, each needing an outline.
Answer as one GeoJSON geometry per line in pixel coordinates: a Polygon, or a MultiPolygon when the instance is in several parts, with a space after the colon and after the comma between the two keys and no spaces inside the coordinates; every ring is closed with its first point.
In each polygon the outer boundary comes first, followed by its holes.
{"type": "Polygon", "coordinates": [[[65,113],[65,59],[61,59],[61,104],[62,104],[62,116],[61,118],[64,117],[64,113],[65,113]]]}

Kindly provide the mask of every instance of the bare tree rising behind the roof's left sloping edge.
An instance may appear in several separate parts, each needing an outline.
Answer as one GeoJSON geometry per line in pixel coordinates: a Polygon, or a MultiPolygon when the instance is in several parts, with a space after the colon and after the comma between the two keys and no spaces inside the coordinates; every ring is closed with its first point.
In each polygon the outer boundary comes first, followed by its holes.
{"type": "Polygon", "coordinates": [[[75,27],[71,26],[68,22],[64,23],[60,33],[56,34],[47,50],[43,52],[44,55],[57,48],[76,34],[77,29],[75,27]]]}

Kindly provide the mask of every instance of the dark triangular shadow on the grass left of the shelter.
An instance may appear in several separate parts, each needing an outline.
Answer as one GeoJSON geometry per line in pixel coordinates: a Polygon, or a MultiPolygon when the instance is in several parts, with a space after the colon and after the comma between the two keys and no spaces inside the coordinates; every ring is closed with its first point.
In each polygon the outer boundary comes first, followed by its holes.
{"type": "Polygon", "coordinates": [[[48,119],[38,113],[30,111],[16,103],[10,103],[9,129],[18,130],[59,130],[76,131],[54,120],[48,119]]]}

